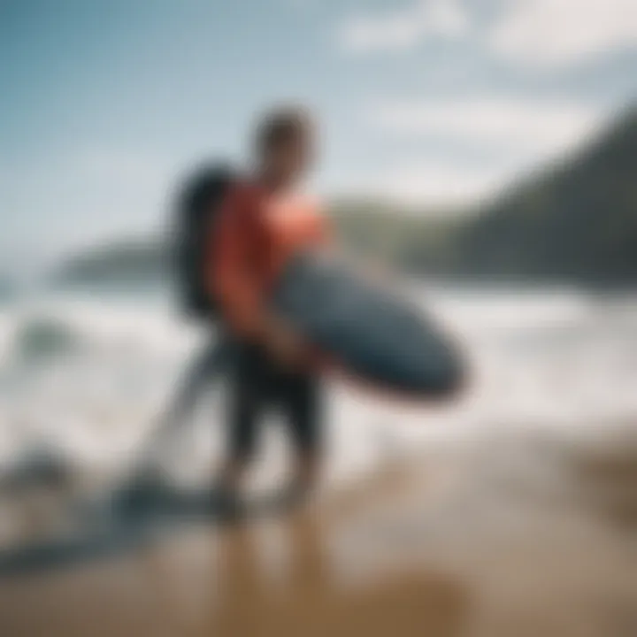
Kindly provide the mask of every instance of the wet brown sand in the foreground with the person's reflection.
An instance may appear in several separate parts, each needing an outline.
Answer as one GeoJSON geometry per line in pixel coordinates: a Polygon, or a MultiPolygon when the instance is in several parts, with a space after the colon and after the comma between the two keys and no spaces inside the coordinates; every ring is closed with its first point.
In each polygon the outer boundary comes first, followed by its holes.
{"type": "Polygon", "coordinates": [[[0,584],[2,637],[637,635],[637,444],[399,454],[280,520],[0,584]]]}

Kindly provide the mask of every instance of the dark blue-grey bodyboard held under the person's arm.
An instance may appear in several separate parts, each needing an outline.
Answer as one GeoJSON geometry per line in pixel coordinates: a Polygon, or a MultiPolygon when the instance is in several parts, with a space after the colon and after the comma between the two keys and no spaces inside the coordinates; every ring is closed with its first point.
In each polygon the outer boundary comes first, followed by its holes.
{"type": "Polygon", "coordinates": [[[462,380],[457,344],[432,317],[319,250],[289,260],[270,303],[334,368],[374,388],[431,398],[462,380]]]}

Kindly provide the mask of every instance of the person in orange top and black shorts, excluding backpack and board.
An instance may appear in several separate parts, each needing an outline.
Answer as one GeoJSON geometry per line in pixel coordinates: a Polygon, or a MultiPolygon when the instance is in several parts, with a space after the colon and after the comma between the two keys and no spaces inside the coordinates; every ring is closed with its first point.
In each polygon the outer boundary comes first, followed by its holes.
{"type": "Polygon", "coordinates": [[[325,243],[318,206],[300,192],[315,150],[311,116],[301,108],[268,113],[257,125],[254,167],[227,189],[211,234],[209,290],[222,322],[232,326],[234,362],[226,422],[228,449],[219,495],[232,506],[257,450],[265,410],[280,409],[294,449],[289,497],[316,485],[321,464],[321,388],[295,365],[295,333],[265,311],[262,301],[280,265],[295,250],[325,243]]]}

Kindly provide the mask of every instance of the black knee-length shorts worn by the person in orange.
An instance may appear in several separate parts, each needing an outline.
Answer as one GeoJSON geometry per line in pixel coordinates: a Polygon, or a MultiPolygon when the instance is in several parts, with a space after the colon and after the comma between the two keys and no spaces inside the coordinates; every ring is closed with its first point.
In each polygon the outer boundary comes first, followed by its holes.
{"type": "Polygon", "coordinates": [[[321,398],[319,380],[290,370],[261,347],[242,344],[231,376],[228,405],[230,452],[234,458],[254,454],[265,411],[278,408],[297,452],[319,452],[321,398]]]}

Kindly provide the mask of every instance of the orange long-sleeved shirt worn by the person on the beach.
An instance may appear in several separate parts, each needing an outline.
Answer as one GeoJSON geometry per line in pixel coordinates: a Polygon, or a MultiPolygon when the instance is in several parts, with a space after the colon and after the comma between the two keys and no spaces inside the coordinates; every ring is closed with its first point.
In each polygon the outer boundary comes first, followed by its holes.
{"type": "Polygon", "coordinates": [[[326,219],[299,195],[270,195],[254,184],[231,187],[211,237],[209,281],[231,326],[254,331],[264,295],[299,249],[326,242],[326,219]]]}

